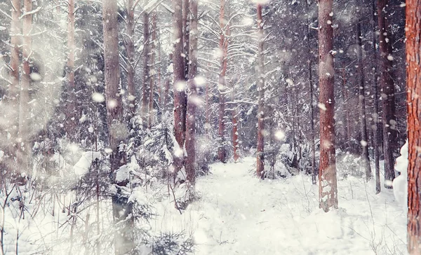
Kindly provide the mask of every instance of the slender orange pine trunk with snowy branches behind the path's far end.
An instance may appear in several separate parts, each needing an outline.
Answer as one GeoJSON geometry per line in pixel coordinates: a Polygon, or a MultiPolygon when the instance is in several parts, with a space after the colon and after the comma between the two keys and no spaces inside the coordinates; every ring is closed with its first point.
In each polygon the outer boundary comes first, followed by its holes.
{"type": "Polygon", "coordinates": [[[218,135],[220,144],[218,148],[218,159],[225,163],[227,152],[225,151],[225,74],[227,72],[228,39],[225,34],[227,30],[225,21],[225,0],[220,2],[220,74],[218,78],[219,112],[218,112],[218,135]]]}

